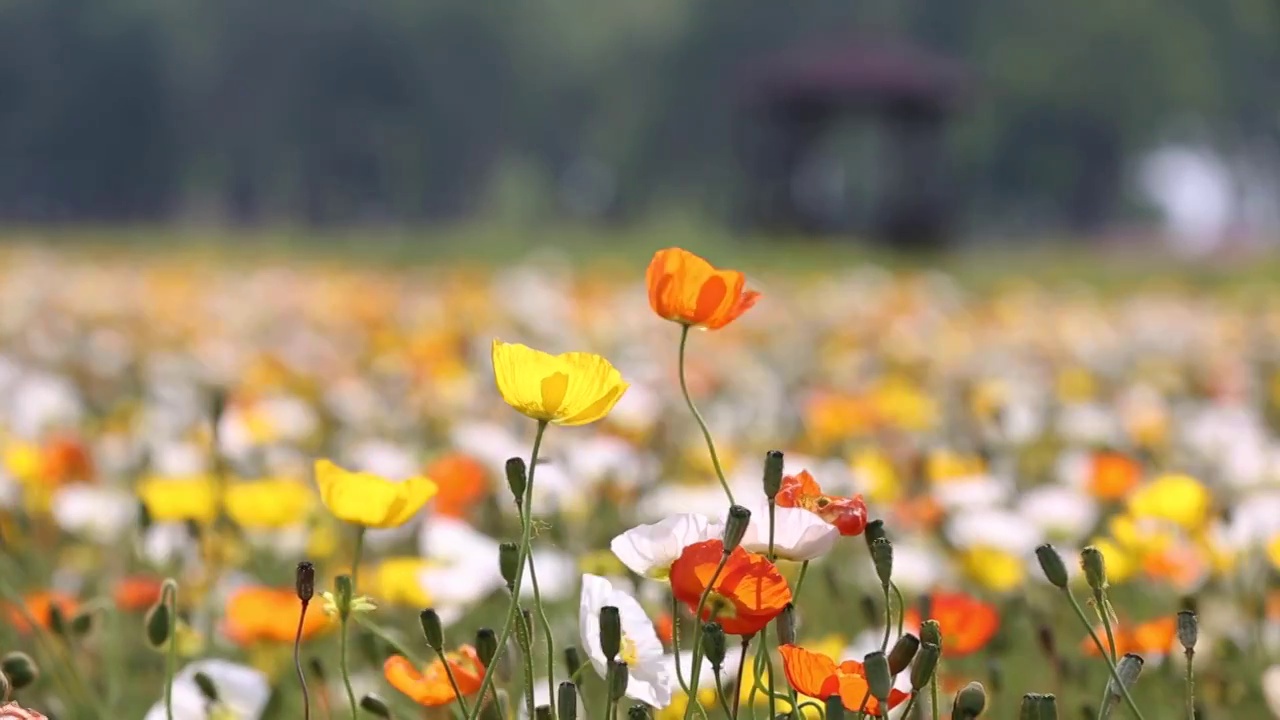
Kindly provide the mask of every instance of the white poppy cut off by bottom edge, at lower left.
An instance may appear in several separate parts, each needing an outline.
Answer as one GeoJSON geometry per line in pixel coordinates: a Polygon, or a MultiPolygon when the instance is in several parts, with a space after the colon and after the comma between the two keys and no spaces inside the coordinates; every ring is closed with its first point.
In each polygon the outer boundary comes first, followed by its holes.
{"type": "MultiPolygon", "coordinates": [[[[271,697],[266,675],[244,665],[227,660],[197,660],[173,679],[174,720],[205,720],[207,717],[204,693],[196,685],[196,673],[209,675],[218,688],[219,702],[237,720],[259,720],[271,697]]],[[[164,700],[151,706],[143,720],[164,720],[164,700]]]]}

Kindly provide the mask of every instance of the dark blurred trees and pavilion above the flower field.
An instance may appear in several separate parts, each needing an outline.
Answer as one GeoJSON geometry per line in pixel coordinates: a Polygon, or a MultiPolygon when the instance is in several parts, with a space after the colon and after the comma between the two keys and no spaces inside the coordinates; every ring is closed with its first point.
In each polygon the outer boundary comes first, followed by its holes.
{"type": "Polygon", "coordinates": [[[1274,0],[5,0],[12,225],[1265,245],[1274,0]]]}

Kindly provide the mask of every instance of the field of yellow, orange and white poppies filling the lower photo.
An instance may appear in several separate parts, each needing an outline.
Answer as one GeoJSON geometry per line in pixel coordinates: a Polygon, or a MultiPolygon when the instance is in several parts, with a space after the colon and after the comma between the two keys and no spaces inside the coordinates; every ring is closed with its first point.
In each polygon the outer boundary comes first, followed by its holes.
{"type": "Polygon", "coordinates": [[[1280,717],[1265,283],[735,266],[6,255],[0,719],[1280,717]]]}

